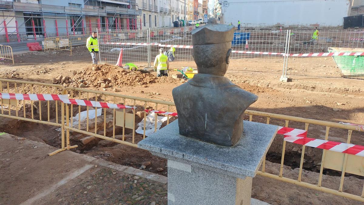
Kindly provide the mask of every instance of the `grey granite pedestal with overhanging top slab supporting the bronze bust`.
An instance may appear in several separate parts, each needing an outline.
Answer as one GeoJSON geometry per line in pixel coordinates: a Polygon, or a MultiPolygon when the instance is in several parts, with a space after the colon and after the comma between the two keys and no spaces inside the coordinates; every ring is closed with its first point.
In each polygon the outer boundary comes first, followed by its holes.
{"type": "Polygon", "coordinates": [[[175,120],[138,143],[168,159],[168,204],[250,204],[255,177],[278,127],[244,121],[233,147],[179,135],[175,120]]]}

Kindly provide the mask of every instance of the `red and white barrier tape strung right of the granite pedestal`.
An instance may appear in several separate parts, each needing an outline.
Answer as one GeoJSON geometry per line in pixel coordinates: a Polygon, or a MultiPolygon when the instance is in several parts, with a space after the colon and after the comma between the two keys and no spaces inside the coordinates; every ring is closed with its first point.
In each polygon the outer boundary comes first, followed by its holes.
{"type": "Polygon", "coordinates": [[[284,141],[301,144],[309,147],[316,147],[324,150],[364,156],[364,146],[333,142],[322,139],[307,137],[307,131],[303,129],[294,129],[289,127],[279,127],[277,134],[284,135],[284,141]]]}

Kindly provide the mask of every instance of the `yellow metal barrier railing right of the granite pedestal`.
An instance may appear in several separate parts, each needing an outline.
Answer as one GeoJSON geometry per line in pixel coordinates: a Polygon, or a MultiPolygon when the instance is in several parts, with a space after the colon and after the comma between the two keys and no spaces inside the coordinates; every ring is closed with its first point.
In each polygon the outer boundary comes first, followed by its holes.
{"type": "MultiPolygon", "coordinates": [[[[307,119],[307,118],[302,118],[302,117],[278,115],[278,114],[272,114],[272,113],[266,113],[266,112],[250,111],[250,110],[247,110],[245,112],[245,114],[249,115],[249,121],[253,120],[253,116],[266,117],[267,124],[270,124],[270,121],[272,119],[284,120],[285,127],[288,127],[288,124],[290,121],[305,123],[305,130],[308,130],[310,124],[321,125],[321,126],[324,126],[325,130],[326,130],[325,131],[325,140],[328,140],[330,128],[346,129],[347,133],[348,133],[346,143],[350,143],[353,131],[357,131],[357,132],[364,131],[362,128],[357,127],[355,125],[344,125],[344,124],[340,124],[340,123],[313,120],[313,119],[307,119]]],[[[304,186],[304,187],[307,187],[310,189],[319,190],[322,192],[327,192],[327,193],[335,194],[337,196],[346,197],[346,198],[350,198],[353,200],[364,202],[364,187],[362,189],[361,196],[343,192],[344,176],[345,176],[346,171],[348,171],[348,173],[351,173],[351,174],[364,176],[364,167],[363,167],[363,163],[361,163],[363,161],[363,157],[356,156],[356,155],[350,155],[350,154],[346,154],[346,153],[344,154],[344,153],[340,153],[340,152],[333,152],[333,151],[329,151],[329,150],[323,150],[323,154],[321,157],[320,174],[318,176],[318,182],[316,185],[314,185],[311,183],[306,183],[306,182],[301,181],[302,170],[303,170],[302,166],[303,166],[304,155],[305,155],[305,147],[306,147],[305,145],[302,146],[300,168],[298,171],[297,179],[290,179],[290,178],[283,177],[283,165],[284,165],[284,154],[285,154],[285,148],[286,148],[286,141],[283,141],[281,165],[280,165],[279,174],[275,175],[275,174],[271,174],[271,173],[266,173],[266,171],[265,171],[266,159],[265,158],[262,162],[261,170],[258,171],[257,174],[265,176],[265,177],[269,177],[272,179],[277,179],[280,181],[304,186]],[[335,160],[332,160],[332,159],[335,159],[335,160]],[[342,159],[342,160],[340,160],[340,159],[342,159]],[[350,163],[348,163],[349,162],[348,159],[350,159],[350,163]],[[340,185],[339,185],[338,190],[329,189],[327,187],[321,186],[324,168],[341,171],[340,185]]]]}

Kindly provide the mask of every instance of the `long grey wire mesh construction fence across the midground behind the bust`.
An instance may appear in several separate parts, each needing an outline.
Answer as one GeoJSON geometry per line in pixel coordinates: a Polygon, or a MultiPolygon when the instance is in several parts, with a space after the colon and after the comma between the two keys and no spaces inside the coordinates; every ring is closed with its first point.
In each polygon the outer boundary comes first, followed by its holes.
{"type": "MultiPolygon", "coordinates": [[[[100,29],[100,60],[116,63],[153,64],[158,49],[175,48],[175,61],[193,62],[192,31],[186,29],[149,28],[143,31],[100,29]]],[[[344,77],[364,76],[364,31],[319,30],[313,38],[313,30],[239,30],[234,32],[232,54],[234,59],[256,59],[278,62],[282,65],[282,77],[287,77],[290,59],[306,63],[313,58],[332,57],[344,77]]],[[[291,62],[292,63],[292,62],[291,62]]],[[[179,65],[178,63],[176,65],[179,65]]],[[[172,65],[173,66],[173,65],[172,65]]]]}

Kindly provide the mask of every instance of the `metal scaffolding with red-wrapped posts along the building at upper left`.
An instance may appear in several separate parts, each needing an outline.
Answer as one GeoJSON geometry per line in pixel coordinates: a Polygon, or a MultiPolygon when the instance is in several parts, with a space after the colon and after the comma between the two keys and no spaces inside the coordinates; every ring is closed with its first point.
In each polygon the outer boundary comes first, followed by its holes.
{"type": "Polygon", "coordinates": [[[128,8],[82,8],[84,4],[67,7],[0,0],[0,16],[3,17],[0,42],[86,34],[96,28],[141,29],[141,10],[135,9],[135,0],[125,0],[125,3],[129,3],[128,8]],[[54,19],[54,23],[49,19],[54,19]]]}

